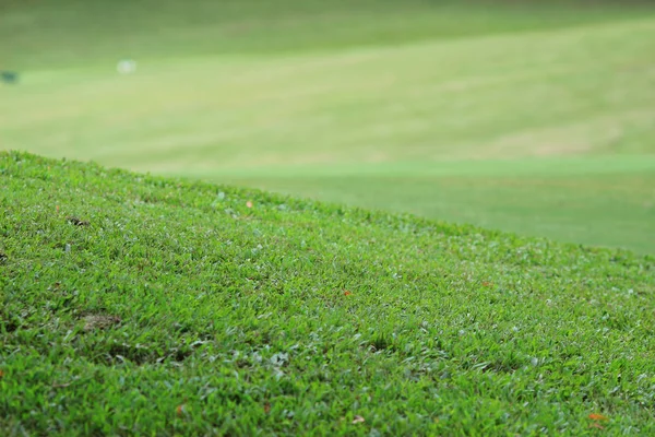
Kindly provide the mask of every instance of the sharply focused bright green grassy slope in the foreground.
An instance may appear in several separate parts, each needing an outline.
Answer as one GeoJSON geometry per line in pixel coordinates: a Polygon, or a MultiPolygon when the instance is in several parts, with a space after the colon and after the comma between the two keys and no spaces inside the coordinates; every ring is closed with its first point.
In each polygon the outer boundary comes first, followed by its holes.
{"type": "Polygon", "coordinates": [[[26,154],[0,185],[0,434],[655,433],[653,258],[26,154]]]}

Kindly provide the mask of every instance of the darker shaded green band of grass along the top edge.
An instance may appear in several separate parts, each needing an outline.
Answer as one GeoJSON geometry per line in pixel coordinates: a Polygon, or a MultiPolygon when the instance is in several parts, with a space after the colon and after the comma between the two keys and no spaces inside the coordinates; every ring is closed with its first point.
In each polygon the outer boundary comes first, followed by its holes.
{"type": "Polygon", "coordinates": [[[0,59],[31,69],[123,57],[266,55],[386,46],[639,17],[645,2],[5,0],[0,59]]]}

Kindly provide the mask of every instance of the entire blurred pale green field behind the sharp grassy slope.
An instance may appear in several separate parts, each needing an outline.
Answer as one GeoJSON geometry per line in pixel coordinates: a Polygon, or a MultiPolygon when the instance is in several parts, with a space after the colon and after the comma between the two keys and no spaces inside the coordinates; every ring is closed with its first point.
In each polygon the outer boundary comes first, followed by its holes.
{"type": "Polygon", "coordinates": [[[655,253],[645,1],[3,0],[0,70],[0,150],[655,253]]]}

